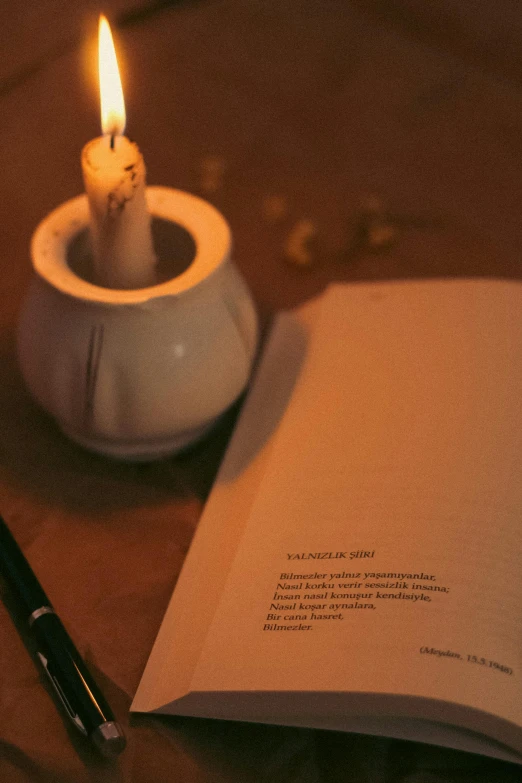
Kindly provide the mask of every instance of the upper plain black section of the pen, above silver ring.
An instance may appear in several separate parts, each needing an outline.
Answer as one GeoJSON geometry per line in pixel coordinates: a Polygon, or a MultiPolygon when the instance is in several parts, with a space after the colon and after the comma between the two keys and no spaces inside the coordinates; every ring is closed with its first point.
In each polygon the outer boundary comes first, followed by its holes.
{"type": "Polygon", "coordinates": [[[22,550],[1,518],[0,573],[27,617],[36,609],[51,605],[22,550]]]}

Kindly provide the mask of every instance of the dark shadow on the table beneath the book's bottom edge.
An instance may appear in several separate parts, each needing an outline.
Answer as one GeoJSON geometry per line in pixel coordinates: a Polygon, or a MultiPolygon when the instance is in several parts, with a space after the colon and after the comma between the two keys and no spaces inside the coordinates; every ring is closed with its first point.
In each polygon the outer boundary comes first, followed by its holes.
{"type": "MultiPolygon", "coordinates": [[[[134,716],[235,783],[518,783],[516,765],[454,750],[345,734],[202,718],[134,716]]],[[[213,775],[215,777],[213,777],[213,775]]]]}

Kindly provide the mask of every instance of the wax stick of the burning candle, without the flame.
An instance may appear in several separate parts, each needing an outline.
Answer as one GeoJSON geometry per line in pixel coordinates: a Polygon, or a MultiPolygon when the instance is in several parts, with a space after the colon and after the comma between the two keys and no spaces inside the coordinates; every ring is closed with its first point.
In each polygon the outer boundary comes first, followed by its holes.
{"type": "Polygon", "coordinates": [[[82,150],[90,208],[93,282],[106,288],[143,288],[156,282],[151,218],[145,201],[145,164],[125,136],[93,139],[82,150]]]}

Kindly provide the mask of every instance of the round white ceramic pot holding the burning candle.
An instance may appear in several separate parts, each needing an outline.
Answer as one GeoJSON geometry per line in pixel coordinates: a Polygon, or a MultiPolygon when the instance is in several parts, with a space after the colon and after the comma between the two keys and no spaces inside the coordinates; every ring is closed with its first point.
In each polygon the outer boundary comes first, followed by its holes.
{"type": "Polygon", "coordinates": [[[222,215],[170,188],[147,188],[147,204],[153,226],[178,227],[185,256],[192,247],[185,269],[136,290],[88,282],[79,196],[34,233],[36,275],[18,328],[22,374],[42,408],[82,446],[130,460],[201,438],[245,388],[258,332],[222,215]]]}

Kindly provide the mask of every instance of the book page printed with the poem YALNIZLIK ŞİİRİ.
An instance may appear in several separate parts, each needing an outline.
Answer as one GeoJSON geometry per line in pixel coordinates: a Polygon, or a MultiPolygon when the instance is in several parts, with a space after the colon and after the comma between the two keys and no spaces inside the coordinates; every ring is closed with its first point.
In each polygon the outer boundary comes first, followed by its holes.
{"type": "Polygon", "coordinates": [[[329,290],[192,691],[521,722],[521,312],[518,283],[329,290]]]}

